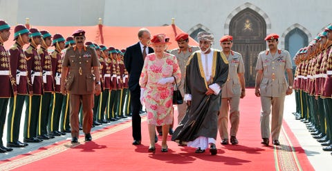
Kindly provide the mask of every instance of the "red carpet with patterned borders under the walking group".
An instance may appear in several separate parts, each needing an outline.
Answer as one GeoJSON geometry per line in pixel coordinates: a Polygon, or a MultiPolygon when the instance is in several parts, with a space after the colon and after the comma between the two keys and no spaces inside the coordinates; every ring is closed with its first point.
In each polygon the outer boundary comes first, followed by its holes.
{"type": "Polygon", "coordinates": [[[260,144],[259,110],[259,98],[254,90],[248,90],[241,101],[239,145],[221,145],[218,137],[216,156],[210,152],[195,154],[193,148],[173,141],[167,142],[169,152],[162,153],[160,139],[156,154],[147,152],[143,117],[142,145],[131,145],[131,122],[127,121],[93,132],[93,141],[88,143],[81,137],[81,144],[71,148],[70,142],[64,141],[1,161],[0,170],[314,170],[286,123],[279,139],[282,145],[260,144]]]}

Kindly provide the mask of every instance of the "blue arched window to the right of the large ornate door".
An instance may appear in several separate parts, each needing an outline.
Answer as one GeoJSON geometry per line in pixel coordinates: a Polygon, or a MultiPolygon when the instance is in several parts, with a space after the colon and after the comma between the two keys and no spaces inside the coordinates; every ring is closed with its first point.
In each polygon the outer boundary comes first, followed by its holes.
{"type": "MultiPolygon", "coordinates": [[[[299,28],[294,28],[290,32],[286,34],[285,37],[285,50],[291,54],[291,58],[295,56],[297,50],[303,48],[304,46],[308,46],[308,36],[304,31],[299,28]]],[[[295,66],[294,61],[293,66],[295,66]]]]}

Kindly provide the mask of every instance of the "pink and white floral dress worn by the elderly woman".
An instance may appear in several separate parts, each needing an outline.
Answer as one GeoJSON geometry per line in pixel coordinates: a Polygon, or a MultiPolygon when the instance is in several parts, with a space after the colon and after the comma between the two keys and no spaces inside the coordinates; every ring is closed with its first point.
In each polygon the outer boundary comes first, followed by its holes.
{"type": "Polygon", "coordinates": [[[147,109],[148,124],[170,125],[173,122],[174,83],[158,83],[160,79],[167,77],[175,77],[177,83],[181,80],[176,57],[164,52],[164,57],[158,59],[156,54],[148,54],[140,74],[140,87],[145,88],[143,101],[147,109]]]}

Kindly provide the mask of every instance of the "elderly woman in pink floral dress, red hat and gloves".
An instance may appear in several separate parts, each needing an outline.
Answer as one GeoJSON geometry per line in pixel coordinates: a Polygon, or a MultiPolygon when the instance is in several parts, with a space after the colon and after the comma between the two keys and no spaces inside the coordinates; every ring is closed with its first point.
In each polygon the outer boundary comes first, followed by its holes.
{"type": "Polygon", "coordinates": [[[165,52],[169,45],[165,34],[157,34],[151,39],[154,53],[145,57],[140,75],[140,101],[147,108],[147,124],[149,129],[149,152],[155,152],[154,137],[156,125],[163,127],[161,152],[167,152],[167,134],[173,122],[173,90],[175,81],[181,80],[181,70],[176,57],[165,52]]]}

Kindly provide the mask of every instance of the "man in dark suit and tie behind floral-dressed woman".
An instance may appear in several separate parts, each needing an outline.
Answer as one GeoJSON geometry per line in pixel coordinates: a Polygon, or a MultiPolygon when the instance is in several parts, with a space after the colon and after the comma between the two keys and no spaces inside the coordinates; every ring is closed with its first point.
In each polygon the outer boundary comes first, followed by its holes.
{"type": "Polygon", "coordinates": [[[140,73],[142,72],[145,56],[154,50],[147,46],[151,34],[147,28],[138,31],[138,43],[129,46],[124,53],[124,65],[129,73],[129,90],[131,93],[133,145],[140,145],[142,139],[140,128],[140,73]]]}

